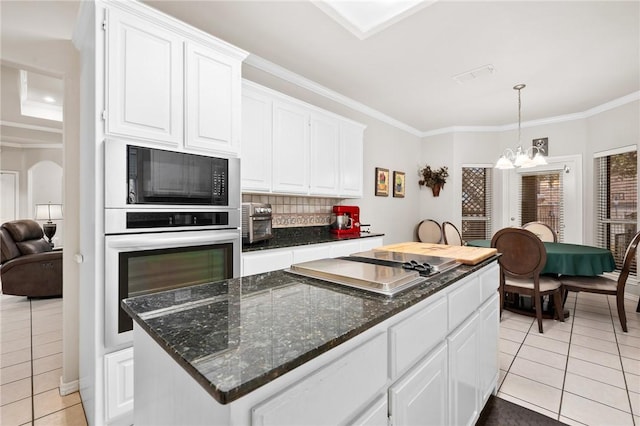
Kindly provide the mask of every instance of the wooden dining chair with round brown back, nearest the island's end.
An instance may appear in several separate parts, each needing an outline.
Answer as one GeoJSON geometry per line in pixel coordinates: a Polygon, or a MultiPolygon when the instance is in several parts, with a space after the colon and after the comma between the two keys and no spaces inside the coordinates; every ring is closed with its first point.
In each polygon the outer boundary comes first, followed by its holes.
{"type": "Polygon", "coordinates": [[[538,331],[542,333],[542,297],[553,296],[557,319],[564,322],[562,310],[562,283],[549,276],[540,275],[547,262],[547,251],[542,241],[531,231],[520,228],[504,228],[491,239],[501,256],[500,264],[500,314],[504,307],[505,293],[531,296],[535,305],[538,331]]]}

